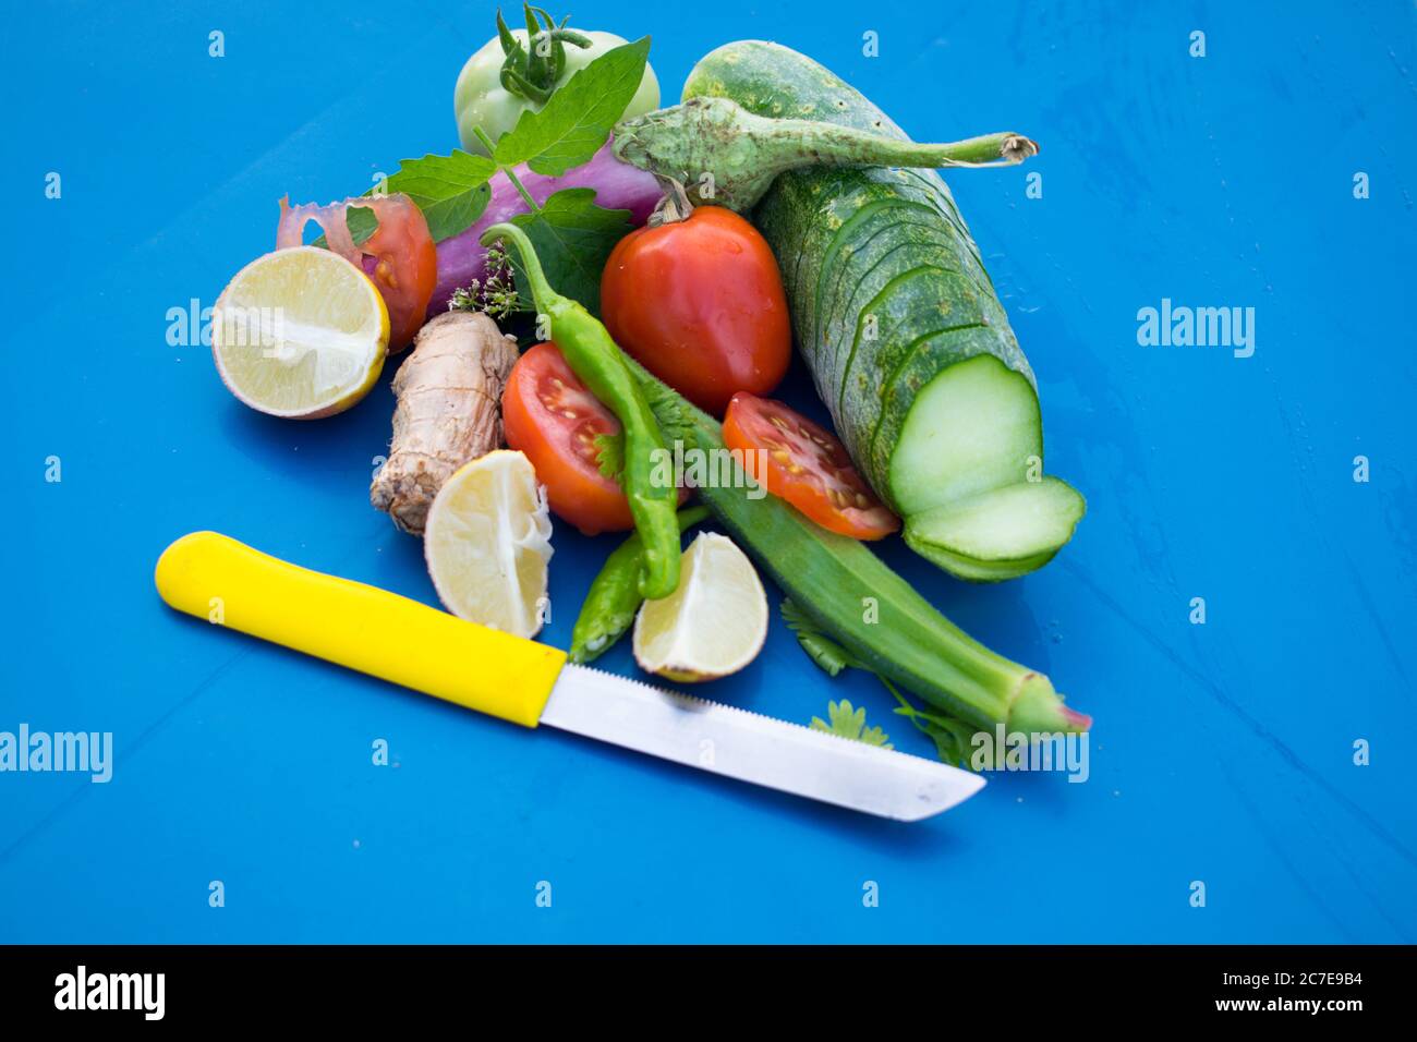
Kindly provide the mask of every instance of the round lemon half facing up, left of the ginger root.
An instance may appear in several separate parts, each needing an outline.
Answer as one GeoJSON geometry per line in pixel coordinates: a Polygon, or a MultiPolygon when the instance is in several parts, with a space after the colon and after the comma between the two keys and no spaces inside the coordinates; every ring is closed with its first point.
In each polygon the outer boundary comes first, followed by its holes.
{"type": "Polygon", "coordinates": [[[317,247],[276,250],[237,272],[211,315],[222,383],[289,420],[343,413],[378,380],[388,309],[359,268],[317,247]]]}

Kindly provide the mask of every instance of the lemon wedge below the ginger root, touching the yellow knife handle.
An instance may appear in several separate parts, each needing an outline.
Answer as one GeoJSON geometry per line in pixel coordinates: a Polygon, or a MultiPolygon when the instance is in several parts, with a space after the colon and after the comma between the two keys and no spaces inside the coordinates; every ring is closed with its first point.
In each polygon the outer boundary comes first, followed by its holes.
{"type": "Polygon", "coordinates": [[[497,449],[463,464],[428,509],[424,557],[453,615],[536,637],[548,607],[551,515],[527,458],[497,449]]]}

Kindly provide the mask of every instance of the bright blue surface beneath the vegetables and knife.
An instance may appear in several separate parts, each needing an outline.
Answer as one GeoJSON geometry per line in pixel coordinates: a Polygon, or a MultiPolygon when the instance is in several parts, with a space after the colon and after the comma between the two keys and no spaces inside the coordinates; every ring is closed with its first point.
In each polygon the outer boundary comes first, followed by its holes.
{"type": "MultiPolygon", "coordinates": [[[[650,33],[670,101],[699,55],[761,37],[917,138],[1041,142],[1022,169],[949,181],[1037,370],[1049,469],[1090,513],[1057,561],[1002,587],[886,556],[1095,716],[1091,778],[998,775],[896,825],[169,612],[153,563],[203,527],[436,603],[418,543],[367,502],[387,377],[337,418],[272,421],[205,349],[170,346],[166,315],[271,248],[281,194],[343,197],[452,147],[453,78],[492,11],[45,4],[10,16],[0,62],[18,223],[0,730],[113,732],[116,764],[108,785],[0,774],[0,940],[1417,939],[1413,6],[572,13],[650,33]],[[862,55],[866,30],[881,57],[862,55]],[[1187,55],[1192,30],[1207,57],[1187,55]],[[1138,346],[1136,312],[1162,298],[1255,308],[1254,356],[1138,346]],[[371,764],[376,739],[391,766],[371,764]]],[[[608,544],[557,525],[546,639],[568,639],[608,544]]],[[[606,661],[631,669],[623,649],[606,661]]],[[[873,682],[828,680],[777,621],[707,693],[802,722],[845,695],[928,754],[873,682]]]]}

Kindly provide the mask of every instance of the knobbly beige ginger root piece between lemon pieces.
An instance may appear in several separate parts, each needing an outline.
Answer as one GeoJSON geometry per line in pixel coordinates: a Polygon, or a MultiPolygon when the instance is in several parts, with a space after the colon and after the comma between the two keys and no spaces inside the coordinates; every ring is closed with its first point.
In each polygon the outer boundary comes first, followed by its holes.
{"type": "Polygon", "coordinates": [[[502,388],[516,340],[482,313],[452,310],[425,325],[394,377],[394,441],[368,500],[421,536],[453,471],[502,445],[502,388]]]}

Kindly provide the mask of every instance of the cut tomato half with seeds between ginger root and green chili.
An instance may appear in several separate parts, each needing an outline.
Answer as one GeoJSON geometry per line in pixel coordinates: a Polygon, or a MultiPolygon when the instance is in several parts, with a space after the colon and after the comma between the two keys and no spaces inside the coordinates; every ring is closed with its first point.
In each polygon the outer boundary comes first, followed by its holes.
{"type": "Polygon", "coordinates": [[[554,343],[530,347],[512,367],[502,393],[507,445],[526,454],[546,485],[557,516],[587,536],[633,527],[629,500],[614,478],[601,474],[595,438],[619,434],[615,414],[602,405],[554,343]]]}

